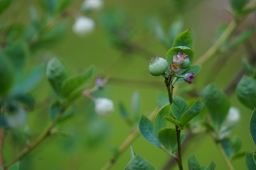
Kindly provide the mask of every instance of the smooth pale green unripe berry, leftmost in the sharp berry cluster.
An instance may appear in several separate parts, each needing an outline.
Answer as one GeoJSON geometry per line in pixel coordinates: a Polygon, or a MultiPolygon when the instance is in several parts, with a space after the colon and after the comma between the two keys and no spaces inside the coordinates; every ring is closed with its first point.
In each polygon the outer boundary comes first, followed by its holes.
{"type": "Polygon", "coordinates": [[[166,72],[167,68],[168,62],[164,58],[156,56],[149,60],[149,72],[153,76],[161,76],[161,74],[166,72]]]}

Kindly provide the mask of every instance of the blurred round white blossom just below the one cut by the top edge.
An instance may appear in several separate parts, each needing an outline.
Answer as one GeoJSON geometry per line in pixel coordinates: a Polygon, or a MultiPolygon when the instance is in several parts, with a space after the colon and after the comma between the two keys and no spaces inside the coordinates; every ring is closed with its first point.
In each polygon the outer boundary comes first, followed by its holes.
{"type": "Polygon", "coordinates": [[[77,35],[86,35],[95,28],[95,22],[86,16],[79,16],[73,25],[73,31],[77,35]]]}

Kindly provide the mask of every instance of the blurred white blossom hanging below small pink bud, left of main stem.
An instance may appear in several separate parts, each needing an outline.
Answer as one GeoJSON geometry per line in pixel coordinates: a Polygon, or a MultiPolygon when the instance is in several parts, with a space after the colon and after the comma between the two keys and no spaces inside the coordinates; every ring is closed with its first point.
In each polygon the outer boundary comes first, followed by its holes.
{"type": "Polygon", "coordinates": [[[97,115],[110,115],[114,111],[114,103],[109,98],[96,98],[95,111],[97,115]]]}

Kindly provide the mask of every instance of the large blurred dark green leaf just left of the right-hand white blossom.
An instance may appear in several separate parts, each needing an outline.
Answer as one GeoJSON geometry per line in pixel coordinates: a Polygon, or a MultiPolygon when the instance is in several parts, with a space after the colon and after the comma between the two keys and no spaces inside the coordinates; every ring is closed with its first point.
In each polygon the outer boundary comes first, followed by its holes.
{"type": "Polygon", "coordinates": [[[210,84],[203,89],[203,100],[214,125],[220,128],[230,108],[228,97],[215,85],[210,84]]]}

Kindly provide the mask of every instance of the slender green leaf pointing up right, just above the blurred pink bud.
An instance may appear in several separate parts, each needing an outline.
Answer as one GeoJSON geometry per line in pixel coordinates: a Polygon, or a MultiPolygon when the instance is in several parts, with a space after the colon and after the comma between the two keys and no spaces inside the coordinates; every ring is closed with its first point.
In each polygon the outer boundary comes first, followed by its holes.
{"type": "Polygon", "coordinates": [[[63,81],[63,84],[61,86],[61,94],[64,97],[68,97],[73,91],[78,89],[78,87],[82,86],[82,84],[87,81],[92,76],[92,72],[94,70],[94,67],[90,67],[82,74],[79,74],[75,77],[70,77],[63,81]]]}

